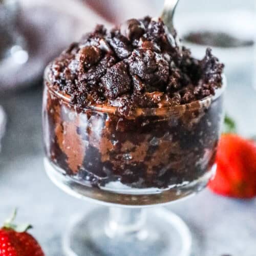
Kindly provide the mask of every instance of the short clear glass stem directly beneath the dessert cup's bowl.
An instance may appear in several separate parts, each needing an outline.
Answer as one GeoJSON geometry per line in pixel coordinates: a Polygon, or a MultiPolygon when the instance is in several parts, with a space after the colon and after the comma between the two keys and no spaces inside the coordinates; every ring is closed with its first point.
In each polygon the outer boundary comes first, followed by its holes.
{"type": "Polygon", "coordinates": [[[110,207],[105,230],[109,237],[137,233],[142,229],[145,219],[145,211],[141,208],[110,207]]]}

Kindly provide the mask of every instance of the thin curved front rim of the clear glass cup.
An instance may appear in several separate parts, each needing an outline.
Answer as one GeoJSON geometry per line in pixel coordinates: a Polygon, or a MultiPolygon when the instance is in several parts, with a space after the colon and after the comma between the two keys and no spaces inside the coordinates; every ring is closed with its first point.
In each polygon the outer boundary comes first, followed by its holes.
{"type": "MultiPolygon", "coordinates": [[[[50,64],[46,67],[45,72],[44,72],[44,86],[46,85],[46,82],[50,83],[49,80],[49,69],[50,69],[50,64]]],[[[212,102],[216,101],[223,93],[225,92],[225,89],[227,87],[227,81],[226,81],[226,76],[222,74],[222,87],[217,88],[215,90],[215,95],[210,95],[205,98],[195,100],[189,103],[181,104],[181,105],[174,105],[174,106],[163,106],[161,108],[136,108],[135,109],[135,115],[166,115],[169,113],[178,113],[182,112],[184,113],[186,110],[189,111],[194,111],[198,110],[199,106],[209,106],[212,102]]],[[[118,106],[111,106],[111,105],[104,105],[104,104],[95,104],[95,105],[88,105],[85,107],[79,107],[76,104],[71,103],[71,97],[68,94],[65,94],[61,91],[56,91],[49,86],[47,86],[48,90],[53,93],[56,97],[60,98],[64,102],[66,102],[68,105],[73,106],[75,109],[79,109],[81,111],[86,111],[86,110],[92,110],[92,111],[98,111],[102,113],[112,113],[112,114],[117,114],[118,109],[120,107],[118,106]]]]}

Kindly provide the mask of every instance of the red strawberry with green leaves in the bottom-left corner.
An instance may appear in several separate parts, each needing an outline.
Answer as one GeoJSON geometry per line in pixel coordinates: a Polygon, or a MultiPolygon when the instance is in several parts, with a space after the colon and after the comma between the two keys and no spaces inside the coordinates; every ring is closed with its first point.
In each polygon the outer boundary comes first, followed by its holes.
{"type": "Polygon", "coordinates": [[[27,233],[31,226],[12,224],[15,216],[16,211],[0,229],[0,256],[44,256],[40,245],[27,233]]]}

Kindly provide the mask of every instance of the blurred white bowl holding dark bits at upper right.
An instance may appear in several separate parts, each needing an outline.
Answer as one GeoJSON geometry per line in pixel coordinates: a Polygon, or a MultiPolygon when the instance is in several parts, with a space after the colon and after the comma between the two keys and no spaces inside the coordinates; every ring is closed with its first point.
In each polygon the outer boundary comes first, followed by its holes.
{"type": "Polygon", "coordinates": [[[183,44],[195,57],[202,59],[210,47],[225,64],[229,83],[252,83],[255,30],[252,12],[194,13],[186,19],[179,17],[177,24],[183,44]]]}

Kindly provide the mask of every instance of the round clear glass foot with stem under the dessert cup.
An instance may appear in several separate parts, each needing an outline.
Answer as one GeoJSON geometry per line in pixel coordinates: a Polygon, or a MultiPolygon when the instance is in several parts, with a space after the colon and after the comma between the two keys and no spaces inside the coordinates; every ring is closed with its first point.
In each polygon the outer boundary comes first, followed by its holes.
{"type": "Polygon", "coordinates": [[[69,256],[189,256],[186,224],[163,208],[100,207],[72,220],[63,237],[69,256]]]}

